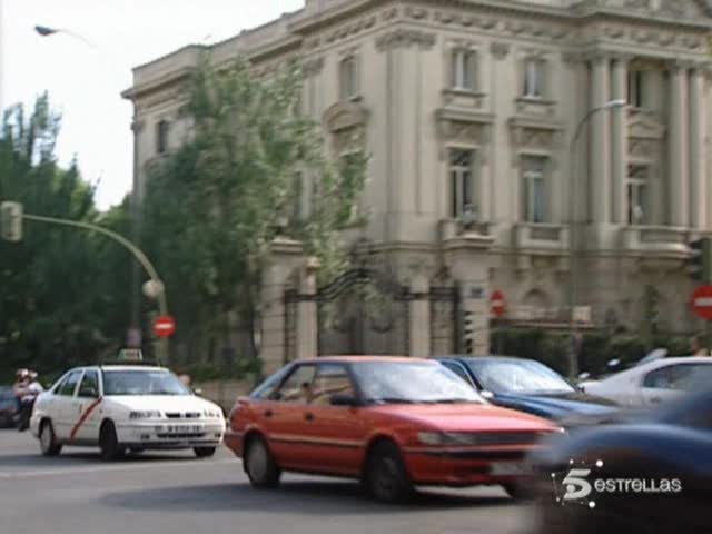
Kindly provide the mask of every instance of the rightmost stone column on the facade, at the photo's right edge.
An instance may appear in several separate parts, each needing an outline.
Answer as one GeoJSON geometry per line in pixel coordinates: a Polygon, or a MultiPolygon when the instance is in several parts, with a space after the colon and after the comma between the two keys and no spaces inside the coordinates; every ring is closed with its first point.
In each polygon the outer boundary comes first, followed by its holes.
{"type": "Polygon", "coordinates": [[[708,224],[705,83],[703,68],[693,69],[690,76],[690,227],[695,229],[704,229],[708,224]]]}

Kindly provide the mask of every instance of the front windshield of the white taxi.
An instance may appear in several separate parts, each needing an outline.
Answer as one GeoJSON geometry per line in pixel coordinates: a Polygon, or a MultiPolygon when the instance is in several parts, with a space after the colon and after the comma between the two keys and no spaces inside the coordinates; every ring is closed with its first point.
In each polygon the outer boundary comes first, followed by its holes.
{"type": "Polygon", "coordinates": [[[105,370],[105,395],[190,395],[172,373],[165,370],[105,370]]]}

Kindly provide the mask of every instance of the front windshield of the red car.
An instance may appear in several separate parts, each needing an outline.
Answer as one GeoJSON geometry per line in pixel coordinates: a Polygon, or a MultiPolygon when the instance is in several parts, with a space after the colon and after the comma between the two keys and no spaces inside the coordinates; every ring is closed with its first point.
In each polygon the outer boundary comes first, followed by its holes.
{"type": "Polygon", "coordinates": [[[358,362],[352,368],[367,403],[486,404],[462,378],[442,365],[426,362],[358,362]]]}

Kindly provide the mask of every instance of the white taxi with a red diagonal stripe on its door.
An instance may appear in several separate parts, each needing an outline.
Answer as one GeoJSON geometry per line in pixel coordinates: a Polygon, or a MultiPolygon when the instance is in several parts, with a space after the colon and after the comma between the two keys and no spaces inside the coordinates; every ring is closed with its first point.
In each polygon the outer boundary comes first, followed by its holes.
{"type": "Polygon", "coordinates": [[[216,404],[168,369],[145,365],[69,370],[38,397],[30,426],[46,456],[65,445],[98,445],[105,459],[148,448],[192,448],[207,457],[225,435],[216,404]]]}

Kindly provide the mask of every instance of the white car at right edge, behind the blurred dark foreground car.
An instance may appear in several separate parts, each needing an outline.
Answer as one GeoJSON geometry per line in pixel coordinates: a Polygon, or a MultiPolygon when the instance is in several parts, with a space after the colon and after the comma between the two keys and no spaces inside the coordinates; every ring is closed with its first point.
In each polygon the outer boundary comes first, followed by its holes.
{"type": "Polygon", "coordinates": [[[654,406],[685,392],[712,384],[712,357],[662,358],[636,365],[600,382],[581,387],[592,395],[623,406],[654,406]]]}

